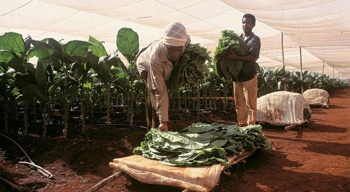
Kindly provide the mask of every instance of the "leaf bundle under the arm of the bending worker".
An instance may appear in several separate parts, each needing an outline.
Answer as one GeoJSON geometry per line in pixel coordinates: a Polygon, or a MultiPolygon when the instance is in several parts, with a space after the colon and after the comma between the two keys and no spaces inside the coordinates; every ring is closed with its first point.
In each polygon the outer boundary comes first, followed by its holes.
{"type": "Polygon", "coordinates": [[[212,60],[209,54],[210,52],[199,44],[189,44],[180,57],[178,65],[172,70],[167,84],[168,89],[177,90],[183,83],[191,87],[199,86],[205,74],[209,72],[205,65],[206,61],[212,60]]]}

